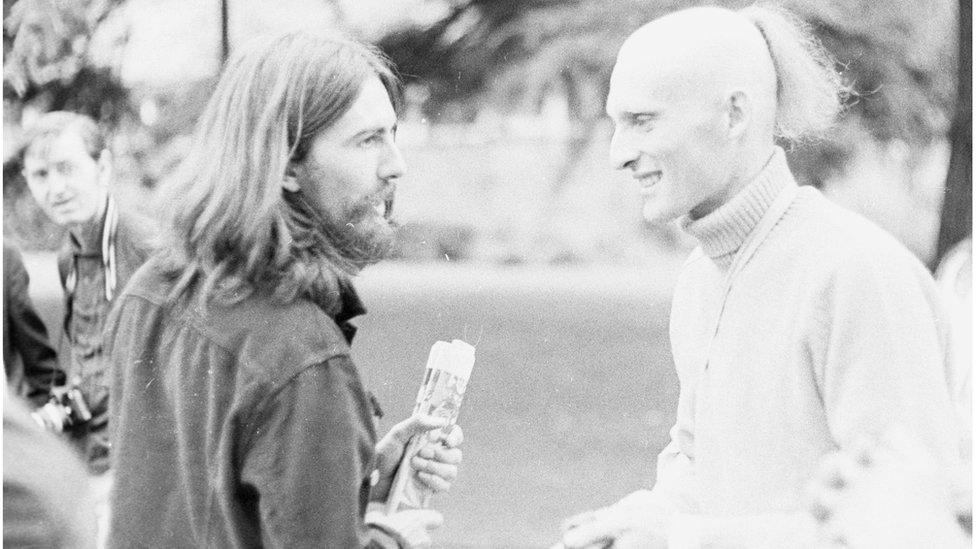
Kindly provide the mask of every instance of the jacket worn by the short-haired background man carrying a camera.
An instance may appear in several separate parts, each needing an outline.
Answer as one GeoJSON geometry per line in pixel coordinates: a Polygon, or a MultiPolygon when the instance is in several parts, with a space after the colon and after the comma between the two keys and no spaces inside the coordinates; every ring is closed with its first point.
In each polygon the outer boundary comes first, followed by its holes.
{"type": "Polygon", "coordinates": [[[111,446],[107,427],[108,359],[102,351],[102,334],[112,304],[135,271],[145,263],[154,237],[149,220],[133,212],[119,211],[115,253],[117,281],[112,299],[108,299],[101,247],[104,231],[105,215],[90,228],[89,240],[93,242],[82,244],[69,234],[58,253],[58,274],[64,289],[64,337],[59,354],[69,383],[81,389],[92,413],[91,421],[72,428],[69,434],[89,470],[96,474],[108,469],[111,446]],[[73,269],[76,272],[74,288],[68,282],[73,269]]]}

